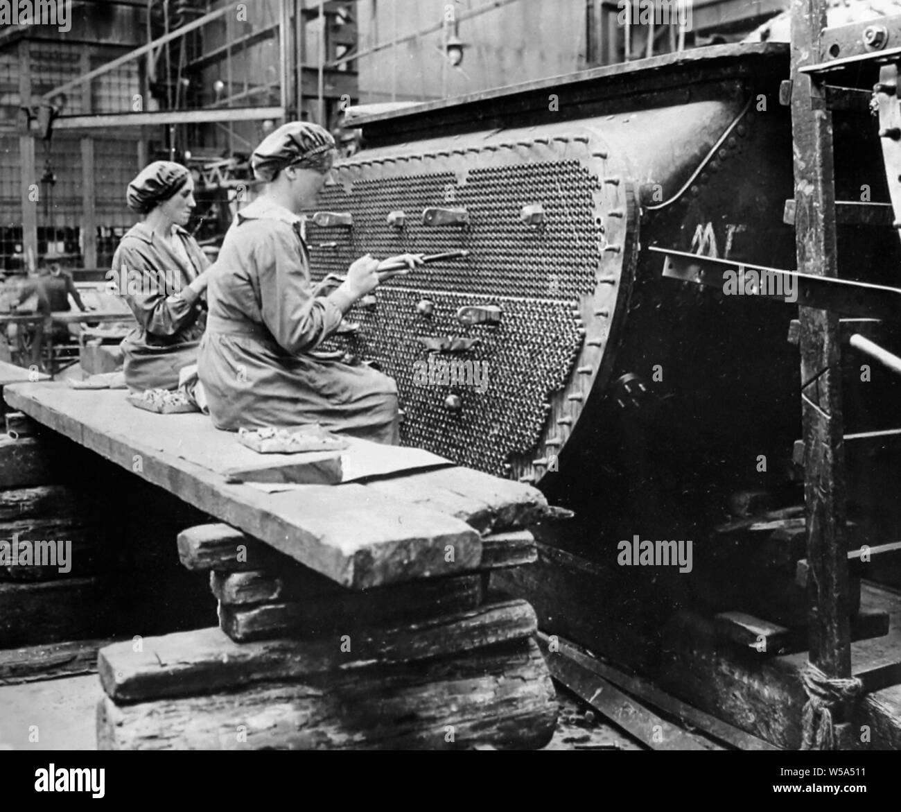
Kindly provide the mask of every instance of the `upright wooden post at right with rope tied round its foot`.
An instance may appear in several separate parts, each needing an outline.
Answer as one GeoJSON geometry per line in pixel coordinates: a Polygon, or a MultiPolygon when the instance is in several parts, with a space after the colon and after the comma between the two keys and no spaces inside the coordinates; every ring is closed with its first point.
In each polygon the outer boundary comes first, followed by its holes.
{"type": "MultiPolygon", "coordinates": [[[[833,117],[824,91],[801,68],[819,53],[825,0],[792,0],[791,114],[795,156],[796,254],[799,273],[836,278],[833,117]]],[[[839,317],[808,307],[801,316],[801,398],[810,661],[827,677],[851,677],[845,472],[842,445],[842,349],[839,317]]]]}

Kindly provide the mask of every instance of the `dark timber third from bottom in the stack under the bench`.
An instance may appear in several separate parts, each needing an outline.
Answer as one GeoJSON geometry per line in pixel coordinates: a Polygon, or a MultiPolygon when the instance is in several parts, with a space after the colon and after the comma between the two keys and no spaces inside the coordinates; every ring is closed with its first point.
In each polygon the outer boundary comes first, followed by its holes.
{"type": "Polygon", "coordinates": [[[251,606],[220,602],[219,625],[232,640],[243,642],[283,634],[314,638],[350,634],[373,625],[415,623],[478,607],[482,579],[459,575],[361,591],[335,588],[297,597],[251,606]]]}

